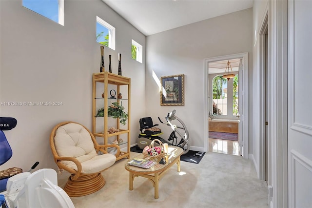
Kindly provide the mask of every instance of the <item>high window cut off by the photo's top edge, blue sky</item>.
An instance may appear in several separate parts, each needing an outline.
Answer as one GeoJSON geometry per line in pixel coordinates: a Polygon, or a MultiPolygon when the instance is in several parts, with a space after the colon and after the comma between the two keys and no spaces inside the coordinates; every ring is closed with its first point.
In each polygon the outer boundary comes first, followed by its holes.
{"type": "Polygon", "coordinates": [[[64,0],[23,0],[23,6],[64,25],[64,0]]]}

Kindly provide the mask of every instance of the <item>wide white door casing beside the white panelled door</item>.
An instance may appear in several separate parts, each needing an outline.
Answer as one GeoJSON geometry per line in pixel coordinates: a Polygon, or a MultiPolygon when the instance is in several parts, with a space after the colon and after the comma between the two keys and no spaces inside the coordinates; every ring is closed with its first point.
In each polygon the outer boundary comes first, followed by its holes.
{"type": "Polygon", "coordinates": [[[269,2],[268,63],[270,84],[269,115],[269,207],[288,207],[287,135],[287,34],[288,1],[269,2]]]}

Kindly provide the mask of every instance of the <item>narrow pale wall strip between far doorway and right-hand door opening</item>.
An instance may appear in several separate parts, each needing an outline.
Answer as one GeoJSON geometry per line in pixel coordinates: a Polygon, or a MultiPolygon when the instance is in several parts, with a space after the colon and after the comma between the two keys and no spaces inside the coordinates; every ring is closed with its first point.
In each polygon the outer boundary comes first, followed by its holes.
{"type": "Polygon", "coordinates": [[[253,140],[253,158],[254,158],[254,166],[256,168],[257,174],[259,176],[259,103],[261,102],[259,100],[260,95],[260,89],[259,89],[259,31],[261,28],[262,21],[264,21],[265,17],[265,10],[266,6],[268,4],[267,0],[255,0],[254,1],[254,7],[253,7],[253,77],[252,77],[252,83],[253,83],[253,90],[252,94],[253,96],[253,102],[252,102],[252,137],[253,140]]]}

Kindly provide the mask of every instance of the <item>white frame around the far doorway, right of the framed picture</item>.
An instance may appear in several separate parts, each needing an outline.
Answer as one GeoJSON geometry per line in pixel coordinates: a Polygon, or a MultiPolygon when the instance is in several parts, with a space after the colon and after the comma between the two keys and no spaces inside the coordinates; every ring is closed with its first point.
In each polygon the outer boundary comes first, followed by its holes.
{"type": "MultiPolygon", "coordinates": [[[[240,104],[243,106],[239,111],[239,139],[240,142],[240,149],[241,154],[244,158],[248,158],[248,53],[241,53],[241,54],[234,54],[234,55],[227,55],[227,56],[221,56],[221,57],[215,57],[215,58],[209,58],[205,59],[205,109],[204,109],[204,117],[205,121],[204,124],[207,126],[207,128],[204,129],[204,135],[205,138],[209,138],[209,111],[210,111],[210,102],[212,105],[212,99],[209,96],[210,88],[211,88],[211,81],[209,81],[209,63],[212,62],[220,62],[220,61],[228,61],[228,60],[234,60],[239,59],[241,60],[241,70],[239,70],[239,77],[240,80],[240,86],[241,86],[241,99],[240,104]]],[[[224,74],[224,73],[223,73],[224,74]]],[[[232,108],[233,109],[233,108],[232,108]]],[[[224,117],[226,118],[226,117],[224,117]]],[[[204,148],[209,151],[209,139],[204,140],[204,148]]]]}

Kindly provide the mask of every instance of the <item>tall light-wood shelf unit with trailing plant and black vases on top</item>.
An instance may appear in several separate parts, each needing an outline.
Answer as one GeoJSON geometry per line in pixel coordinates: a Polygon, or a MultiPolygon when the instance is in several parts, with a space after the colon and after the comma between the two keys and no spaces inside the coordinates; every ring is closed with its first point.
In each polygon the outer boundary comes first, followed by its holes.
{"type": "MultiPolygon", "coordinates": [[[[130,78],[123,77],[117,74],[112,74],[107,71],[93,74],[93,78],[92,78],[92,98],[93,98],[92,100],[92,133],[95,137],[102,137],[104,139],[104,145],[111,144],[111,141],[109,141],[109,137],[116,136],[117,140],[119,141],[120,135],[122,136],[125,136],[125,134],[127,135],[127,139],[125,140],[124,138],[122,138],[123,143],[119,144],[120,146],[123,146],[126,144],[127,151],[123,152],[123,155],[119,155],[119,157],[117,157],[117,160],[120,160],[125,157],[127,158],[130,157],[130,121],[131,121],[130,120],[130,103],[131,103],[130,89],[131,89],[130,78]],[[101,85],[103,85],[103,88],[101,85]],[[117,95],[120,92],[120,86],[122,85],[125,85],[126,87],[128,87],[128,90],[126,90],[127,95],[124,94],[122,99],[117,99],[117,95]],[[111,90],[109,89],[109,87],[117,88],[116,99],[109,98],[110,95],[108,92],[111,90]],[[98,90],[101,89],[101,91],[97,92],[97,89],[98,90]],[[101,97],[101,94],[103,93],[103,91],[104,91],[104,98],[101,97]],[[118,102],[118,103],[120,103],[121,101],[127,102],[127,109],[125,109],[125,111],[128,113],[127,124],[121,125],[119,123],[119,119],[115,119],[116,128],[119,129],[119,132],[115,132],[115,133],[108,132],[109,130],[108,125],[114,125],[111,123],[108,124],[107,115],[108,115],[108,106],[110,105],[109,101],[118,102]],[[100,104],[102,104],[101,107],[104,107],[104,117],[97,118],[96,116],[98,113],[97,102],[100,102],[100,104]],[[102,132],[96,132],[97,122],[103,122],[104,129],[102,129],[102,132]]],[[[123,90],[123,93],[125,93],[124,90],[123,90]]],[[[105,150],[107,151],[107,149],[105,150]]]]}

